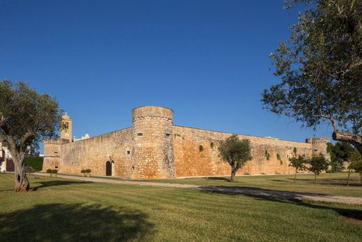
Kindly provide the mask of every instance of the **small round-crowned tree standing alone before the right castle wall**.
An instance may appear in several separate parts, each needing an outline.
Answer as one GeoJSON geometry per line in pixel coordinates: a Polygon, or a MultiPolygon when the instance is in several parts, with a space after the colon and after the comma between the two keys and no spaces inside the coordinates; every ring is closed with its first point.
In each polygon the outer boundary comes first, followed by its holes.
{"type": "Polygon", "coordinates": [[[220,142],[219,156],[231,166],[230,182],[235,181],[235,174],[248,160],[252,160],[249,139],[240,140],[237,135],[232,135],[220,142]]]}

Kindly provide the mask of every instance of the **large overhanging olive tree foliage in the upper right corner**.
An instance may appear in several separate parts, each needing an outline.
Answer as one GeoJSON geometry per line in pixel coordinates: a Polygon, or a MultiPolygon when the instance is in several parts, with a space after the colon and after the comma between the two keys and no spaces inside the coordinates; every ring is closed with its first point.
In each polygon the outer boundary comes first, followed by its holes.
{"type": "Polygon", "coordinates": [[[264,90],[262,103],[308,127],[329,121],[333,139],[362,155],[362,1],[286,3],[307,6],[290,38],[270,55],[281,83],[264,90]]]}

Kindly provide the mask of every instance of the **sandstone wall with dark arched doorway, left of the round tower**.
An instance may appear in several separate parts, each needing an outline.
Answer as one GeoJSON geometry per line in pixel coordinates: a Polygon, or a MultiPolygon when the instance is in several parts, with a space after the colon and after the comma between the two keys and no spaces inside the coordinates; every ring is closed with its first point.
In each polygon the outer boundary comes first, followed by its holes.
{"type": "Polygon", "coordinates": [[[113,174],[133,178],[132,163],[134,128],[125,128],[61,146],[61,173],[80,174],[91,169],[93,175],[106,175],[106,162],[113,161],[113,174]]]}

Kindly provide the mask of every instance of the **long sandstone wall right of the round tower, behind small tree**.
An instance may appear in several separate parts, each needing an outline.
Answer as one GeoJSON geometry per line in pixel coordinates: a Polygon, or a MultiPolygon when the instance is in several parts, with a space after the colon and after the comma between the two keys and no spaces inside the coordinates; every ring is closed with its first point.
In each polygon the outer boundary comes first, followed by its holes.
{"type": "MultiPolygon", "coordinates": [[[[233,134],[182,126],[173,126],[173,134],[176,176],[230,174],[230,165],[222,162],[218,156],[218,143],[233,134]],[[202,151],[200,146],[203,147],[202,151]]],[[[247,162],[237,174],[293,173],[293,168],[288,165],[294,147],[297,148],[297,154],[304,154],[306,158],[313,153],[313,146],[310,143],[248,135],[238,136],[239,139],[250,139],[253,160],[247,162]],[[269,160],[266,152],[269,153],[269,160]]]]}

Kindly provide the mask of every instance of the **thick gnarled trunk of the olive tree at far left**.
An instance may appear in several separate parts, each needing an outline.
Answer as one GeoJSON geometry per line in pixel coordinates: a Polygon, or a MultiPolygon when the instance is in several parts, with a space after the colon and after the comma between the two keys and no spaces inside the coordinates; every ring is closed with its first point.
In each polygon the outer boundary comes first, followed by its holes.
{"type": "Polygon", "coordinates": [[[17,153],[13,160],[15,165],[15,192],[27,192],[30,185],[24,169],[24,154],[17,153]]]}

